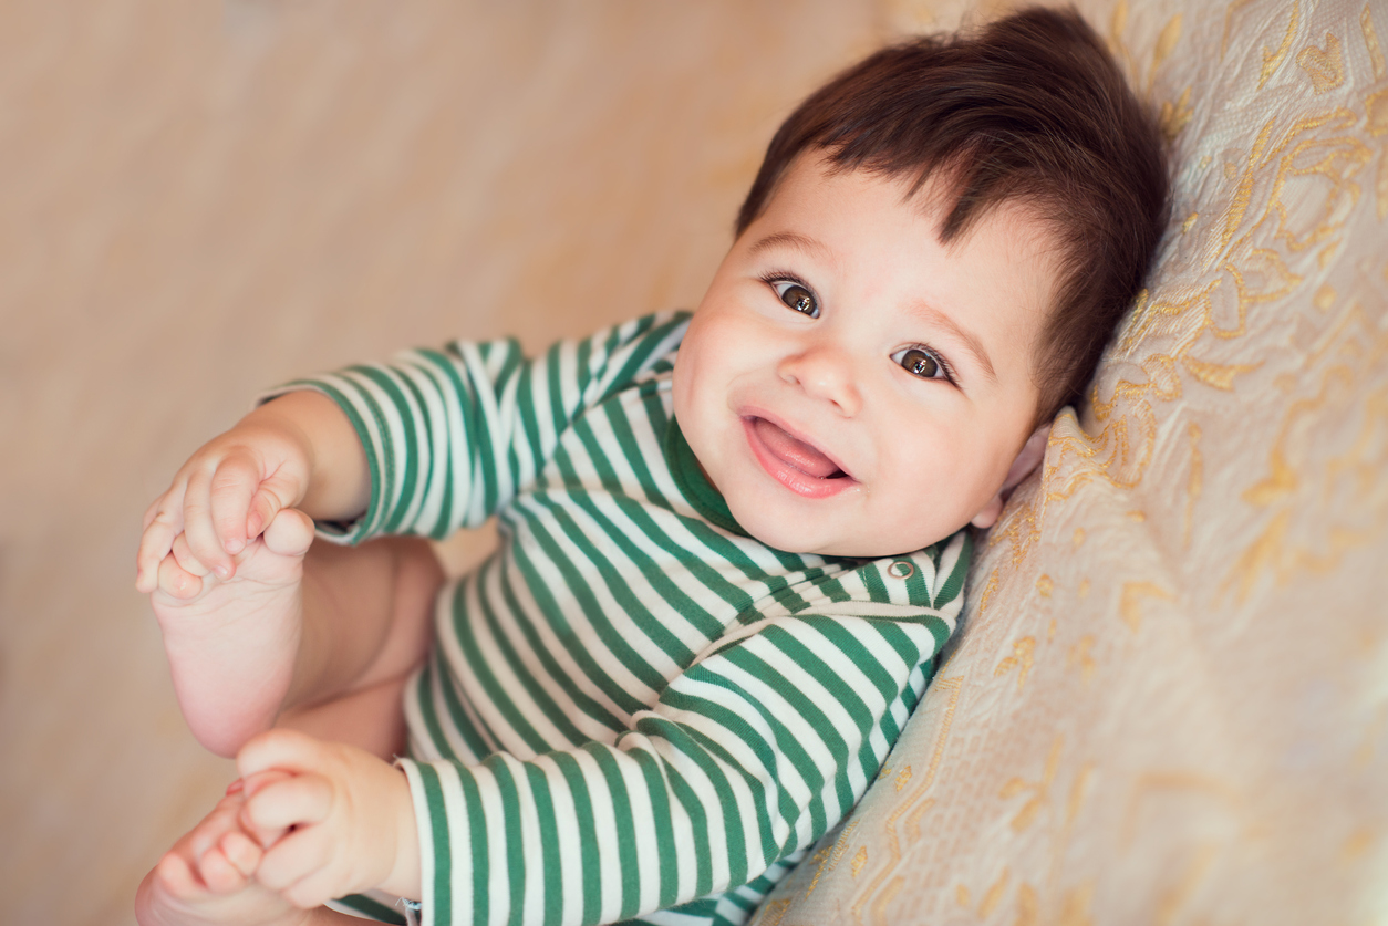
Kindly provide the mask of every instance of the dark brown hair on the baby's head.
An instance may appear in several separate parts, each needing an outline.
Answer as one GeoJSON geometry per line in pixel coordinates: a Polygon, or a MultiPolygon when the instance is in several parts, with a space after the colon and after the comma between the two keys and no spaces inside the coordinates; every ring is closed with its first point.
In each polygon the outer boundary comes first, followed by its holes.
{"type": "Polygon", "coordinates": [[[1056,304],[1034,347],[1037,423],[1076,401],[1142,286],[1167,218],[1162,137],[1074,10],[1031,8],[977,35],[883,49],[780,126],[737,215],[741,235],[797,155],[831,169],[947,178],[940,240],[1020,201],[1059,244],[1056,304]]]}

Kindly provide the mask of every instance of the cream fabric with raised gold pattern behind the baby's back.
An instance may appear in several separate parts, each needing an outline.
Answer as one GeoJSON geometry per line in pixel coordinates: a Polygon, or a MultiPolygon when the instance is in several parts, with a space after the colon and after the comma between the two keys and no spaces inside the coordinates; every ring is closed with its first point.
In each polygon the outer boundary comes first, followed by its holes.
{"type": "Polygon", "coordinates": [[[761,926],[1388,916],[1388,7],[1081,11],[1173,140],[1159,264],[761,926]]]}

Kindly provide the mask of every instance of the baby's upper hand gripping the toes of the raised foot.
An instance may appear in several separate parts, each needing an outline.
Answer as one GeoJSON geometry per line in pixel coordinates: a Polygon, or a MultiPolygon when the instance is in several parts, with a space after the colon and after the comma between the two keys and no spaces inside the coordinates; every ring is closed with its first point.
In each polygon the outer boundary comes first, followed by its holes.
{"type": "Polygon", "coordinates": [[[200,578],[208,572],[232,578],[236,554],[280,508],[304,498],[314,448],[289,416],[278,414],[276,403],[200,447],[149,507],[136,557],[136,589],[151,593],[160,587],[160,564],[169,557],[179,568],[180,597],[196,596],[200,578]]]}

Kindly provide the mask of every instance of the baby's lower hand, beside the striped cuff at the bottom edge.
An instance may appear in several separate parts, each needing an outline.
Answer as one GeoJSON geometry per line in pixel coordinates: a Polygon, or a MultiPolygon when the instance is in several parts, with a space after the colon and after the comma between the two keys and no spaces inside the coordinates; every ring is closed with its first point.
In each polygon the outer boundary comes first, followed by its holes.
{"type": "Polygon", "coordinates": [[[341,743],[273,729],[236,757],[247,782],[242,826],[278,837],[255,880],[303,909],[373,887],[419,897],[419,844],[404,772],[341,743]],[[279,769],[287,779],[261,784],[279,769]]]}

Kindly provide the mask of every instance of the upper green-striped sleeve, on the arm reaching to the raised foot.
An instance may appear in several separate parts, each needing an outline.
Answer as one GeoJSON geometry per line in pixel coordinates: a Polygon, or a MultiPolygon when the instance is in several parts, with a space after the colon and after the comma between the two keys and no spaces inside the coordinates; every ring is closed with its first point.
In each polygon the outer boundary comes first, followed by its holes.
{"type": "Polygon", "coordinates": [[[366,512],[350,525],[319,525],[323,536],[441,539],[479,526],[530,485],[575,415],[666,357],[687,319],[647,315],[533,360],[515,339],[452,342],[286,383],[266,397],[294,389],[329,396],[366,451],[366,512]]]}

